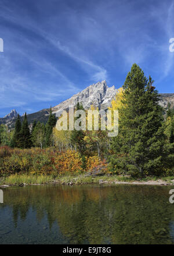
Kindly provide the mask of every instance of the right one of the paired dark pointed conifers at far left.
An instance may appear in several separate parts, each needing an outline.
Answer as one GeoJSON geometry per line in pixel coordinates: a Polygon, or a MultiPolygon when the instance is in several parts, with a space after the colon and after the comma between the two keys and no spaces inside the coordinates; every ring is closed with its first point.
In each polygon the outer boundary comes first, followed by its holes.
{"type": "Polygon", "coordinates": [[[24,115],[23,124],[20,131],[20,147],[21,148],[30,148],[31,143],[31,134],[28,127],[27,113],[24,115]]]}

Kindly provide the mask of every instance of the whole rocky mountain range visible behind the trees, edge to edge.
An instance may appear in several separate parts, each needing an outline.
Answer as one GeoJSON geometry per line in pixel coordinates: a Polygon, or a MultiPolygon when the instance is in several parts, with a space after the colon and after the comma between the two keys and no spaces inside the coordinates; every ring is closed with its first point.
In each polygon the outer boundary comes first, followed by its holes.
{"type": "MultiPolygon", "coordinates": [[[[77,102],[81,102],[85,109],[89,109],[90,105],[95,105],[99,109],[107,109],[111,106],[111,101],[117,93],[117,88],[115,86],[108,87],[106,80],[92,84],[86,87],[84,90],[80,91],[78,94],[73,95],[66,101],[61,102],[52,108],[53,113],[56,114],[57,111],[68,110],[69,106],[77,105],[77,102]]],[[[174,108],[174,93],[161,94],[160,105],[167,108],[168,104],[171,108],[174,108]]],[[[46,123],[49,116],[49,109],[42,109],[41,111],[28,114],[28,123],[33,123],[34,120],[46,123]]],[[[13,109],[4,118],[0,118],[0,125],[8,125],[9,129],[14,127],[14,123],[17,117],[17,112],[13,109]]],[[[23,116],[21,116],[21,121],[23,116]]]]}

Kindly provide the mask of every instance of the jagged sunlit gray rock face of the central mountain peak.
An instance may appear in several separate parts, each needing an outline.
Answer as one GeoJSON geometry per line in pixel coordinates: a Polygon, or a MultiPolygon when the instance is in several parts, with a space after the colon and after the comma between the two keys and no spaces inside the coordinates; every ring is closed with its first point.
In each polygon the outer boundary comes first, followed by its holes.
{"type": "Polygon", "coordinates": [[[101,83],[92,84],[80,93],[73,95],[70,99],[61,102],[52,110],[53,113],[56,113],[57,111],[68,109],[71,105],[77,105],[77,102],[82,103],[85,109],[89,109],[92,104],[99,109],[106,109],[111,105],[116,93],[117,89],[114,86],[108,87],[106,81],[103,80],[101,83]]]}

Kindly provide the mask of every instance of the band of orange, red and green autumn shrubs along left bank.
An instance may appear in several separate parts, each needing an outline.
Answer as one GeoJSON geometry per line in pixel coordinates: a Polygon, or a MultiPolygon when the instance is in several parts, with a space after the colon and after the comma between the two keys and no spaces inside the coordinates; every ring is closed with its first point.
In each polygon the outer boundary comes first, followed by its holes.
{"type": "Polygon", "coordinates": [[[97,156],[81,157],[72,150],[60,152],[57,148],[10,149],[1,147],[0,175],[9,176],[15,173],[31,175],[77,175],[96,166],[103,166],[97,156]]]}

